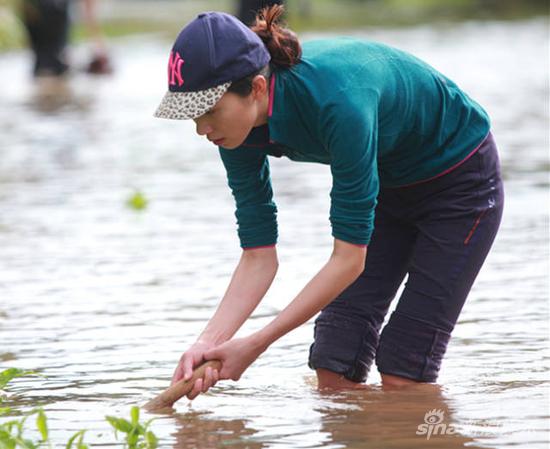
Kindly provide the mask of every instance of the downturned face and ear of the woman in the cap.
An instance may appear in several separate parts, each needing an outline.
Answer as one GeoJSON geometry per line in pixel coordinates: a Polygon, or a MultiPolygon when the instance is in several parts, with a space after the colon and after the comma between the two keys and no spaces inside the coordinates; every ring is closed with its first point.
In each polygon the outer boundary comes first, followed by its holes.
{"type": "Polygon", "coordinates": [[[247,97],[226,92],[209,112],[194,119],[197,134],[206,136],[215,145],[237,148],[253,127],[267,123],[267,108],[267,81],[258,75],[247,97]]]}

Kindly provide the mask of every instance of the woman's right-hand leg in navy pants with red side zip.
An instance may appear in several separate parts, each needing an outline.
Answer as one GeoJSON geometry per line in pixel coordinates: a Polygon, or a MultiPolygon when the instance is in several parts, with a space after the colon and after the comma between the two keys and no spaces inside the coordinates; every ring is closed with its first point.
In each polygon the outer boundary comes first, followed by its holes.
{"type": "Polygon", "coordinates": [[[504,194],[494,141],[490,136],[448,175],[397,190],[418,236],[405,289],[380,336],[376,364],[389,384],[395,378],[434,382],[502,216],[504,194]],[[409,211],[407,202],[414,204],[409,211]]]}

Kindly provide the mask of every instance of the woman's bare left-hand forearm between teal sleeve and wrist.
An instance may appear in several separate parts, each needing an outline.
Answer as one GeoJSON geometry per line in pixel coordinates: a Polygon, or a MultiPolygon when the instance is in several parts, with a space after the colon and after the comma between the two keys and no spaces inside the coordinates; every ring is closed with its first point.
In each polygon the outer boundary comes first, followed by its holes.
{"type": "Polygon", "coordinates": [[[243,251],[227,291],[198,340],[229,340],[254,311],[277,273],[275,246],[243,251]]]}

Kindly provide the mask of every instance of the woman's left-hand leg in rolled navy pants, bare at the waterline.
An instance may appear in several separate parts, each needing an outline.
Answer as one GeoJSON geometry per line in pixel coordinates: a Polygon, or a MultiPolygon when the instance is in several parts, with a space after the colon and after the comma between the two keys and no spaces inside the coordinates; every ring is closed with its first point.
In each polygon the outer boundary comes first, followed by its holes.
{"type": "Polygon", "coordinates": [[[366,379],[378,334],[406,273],[415,231],[379,202],[364,272],[315,320],[309,366],[319,388],[354,388],[366,379]]]}

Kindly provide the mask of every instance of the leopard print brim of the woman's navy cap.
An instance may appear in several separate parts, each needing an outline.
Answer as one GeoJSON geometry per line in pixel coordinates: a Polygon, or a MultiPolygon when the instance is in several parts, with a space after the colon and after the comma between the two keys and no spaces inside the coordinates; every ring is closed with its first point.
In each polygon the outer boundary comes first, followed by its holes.
{"type": "Polygon", "coordinates": [[[200,117],[212,109],[227,92],[231,83],[220,84],[196,92],[166,92],[154,116],[172,120],[200,117]]]}

